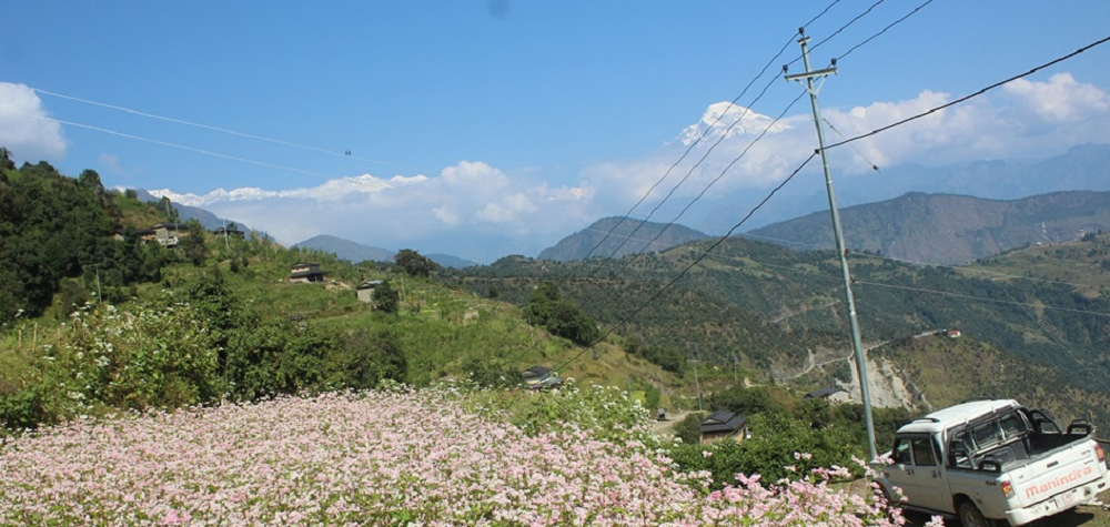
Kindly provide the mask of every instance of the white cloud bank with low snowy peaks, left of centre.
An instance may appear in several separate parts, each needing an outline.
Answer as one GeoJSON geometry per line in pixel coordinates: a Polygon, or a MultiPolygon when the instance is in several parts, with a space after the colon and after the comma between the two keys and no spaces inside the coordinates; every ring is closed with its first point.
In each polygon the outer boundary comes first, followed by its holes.
{"type": "Polygon", "coordinates": [[[268,231],[284,243],[332,234],[397,250],[450,252],[476,261],[553,245],[568,224],[593,221],[593,189],[514,181],[483,162],[463,161],[441,176],[371,174],[341,178],[312,188],[269,191],[218,189],[208,194],[150,191],[155,196],[203,206],[224,217],[268,231]],[[490,241],[502,240],[502,246],[490,241]],[[507,244],[507,245],[505,245],[507,244]],[[512,249],[505,249],[512,246],[512,249]],[[511,251],[511,252],[505,252],[511,251]]]}

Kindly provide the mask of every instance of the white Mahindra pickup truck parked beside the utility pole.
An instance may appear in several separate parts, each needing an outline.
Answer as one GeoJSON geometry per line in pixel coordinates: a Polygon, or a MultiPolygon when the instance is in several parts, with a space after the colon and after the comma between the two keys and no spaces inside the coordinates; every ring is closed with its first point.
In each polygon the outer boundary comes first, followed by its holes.
{"type": "Polygon", "coordinates": [[[965,527],[1025,525],[1108,488],[1092,433],[1013,401],[963,403],[899,428],[878,480],[887,496],[901,490],[902,507],[957,515],[965,527]]]}

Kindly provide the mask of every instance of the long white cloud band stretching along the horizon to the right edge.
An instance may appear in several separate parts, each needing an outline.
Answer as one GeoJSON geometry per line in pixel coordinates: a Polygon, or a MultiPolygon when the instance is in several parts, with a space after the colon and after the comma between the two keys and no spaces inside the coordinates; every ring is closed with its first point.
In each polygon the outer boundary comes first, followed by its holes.
{"type": "MultiPolygon", "coordinates": [[[[902,101],[827,107],[824,116],[833,128],[826,128],[826,138],[829,143],[840,142],[952,99],[948,93],[925,90],[902,101]]],[[[554,178],[534,169],[509,174],[481,161],[461,161],[438,175],[362,174],[281,191],[244,188],[219,189],[205,195],[152,193],[265,229],[287,243],[332,234],[391,250],[412,247],[490,262],[506,254],[535,254],[599,217],[624,214],[648,193],[632,215],[647,216],[673,193],[652,217],[660,222],[672,221],[703,192],[705,202],[697,205],[704,209],[703,219],[713,212],[710,209],[726,206],[726,201],[733,206],[734,197],[758,200],[817,146],[813,119],[805,110],[771,125],[773,119],[766,115],[726,107],[710,105],[698,123],[658,150],[636,159],[586,165],[563,183],[544,181],[554,178]],[[713,124],[718,115],[723,119],[713,124]],[[728,119],[740,115],[740,124],[726,132],[731,124],[728,119]],[[765,129],[763,139],[754,142],[765,129]],[[702,133],[713,140],[695,146],[672,169],[687,148],[684,141],[702,133]],[[710,152],[719,138],[724,141],[710,152]]],[[[833,149],[831,163],[838,176],[850,176],[870,172],[872,163],[880,168],[904,163],[939,166],[1054,155],[1072,144],[1110,136],[1107,113],[1110,103],[1103,90],[1060,74],[1047,82],[1016,83],[850,146],[833,149]]],[[[819,171],[817,162],[807,168],[810,173],[819,171]]],[[[700,227],[697,213],[695,209],[679,222],[700,227]]],[[[729,225],[736,220],[733,215],[730,212],[729,225]]]]}

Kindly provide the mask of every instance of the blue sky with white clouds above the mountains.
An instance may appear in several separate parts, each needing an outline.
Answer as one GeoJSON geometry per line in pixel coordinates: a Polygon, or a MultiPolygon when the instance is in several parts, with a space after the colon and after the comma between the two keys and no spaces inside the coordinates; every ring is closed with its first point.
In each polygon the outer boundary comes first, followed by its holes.
{"type": "MultiPolygon", "coordinates": [[[[815,69],[838,59],[819,91],[830,142],[1110,36],[1110,2],[1078,0],[13,0],[3,11],[0,145],[18,163],[92,169],[105,186],[287,244],[331,234],[480,263],[535,255],[605,216],[714,234],[738,221],[817,148],[804,88],[781,78],[783,64],[804,71],[799,27],[815,69]]],[[[860,178],[872,164],[1108,143],[1107,64],[1110,43],[831,149],[830,165],[860,178]]]]}

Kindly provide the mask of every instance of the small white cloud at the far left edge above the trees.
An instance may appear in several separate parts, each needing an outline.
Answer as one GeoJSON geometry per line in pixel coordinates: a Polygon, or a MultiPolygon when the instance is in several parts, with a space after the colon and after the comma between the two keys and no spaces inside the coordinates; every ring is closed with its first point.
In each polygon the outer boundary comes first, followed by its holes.
{"type": "Polygon", "coordinates": [[[58,161],[65,156],[61,124],[42,118],[47,110],[34,90],[0,82],[0,145],[22,160],[58,161]]]}

